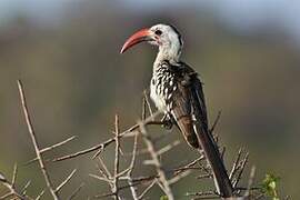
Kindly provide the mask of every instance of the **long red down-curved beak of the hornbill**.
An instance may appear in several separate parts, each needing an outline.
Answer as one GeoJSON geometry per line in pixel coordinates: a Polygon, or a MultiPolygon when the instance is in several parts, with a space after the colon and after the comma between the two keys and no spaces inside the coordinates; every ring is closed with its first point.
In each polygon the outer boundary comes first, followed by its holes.
{"type": "Polygon", "coordinates": [[[149,29],[142,29],[138,32],[136,32],[134,34],[132,34],[123,44],[120,53],[123,53],[124,51],[127,51],[129,48],[131,48],[132,46],[140,43],[142,41],[150,41],[152,40],[151,38],[151,32],[149,31],[149,29]]]}

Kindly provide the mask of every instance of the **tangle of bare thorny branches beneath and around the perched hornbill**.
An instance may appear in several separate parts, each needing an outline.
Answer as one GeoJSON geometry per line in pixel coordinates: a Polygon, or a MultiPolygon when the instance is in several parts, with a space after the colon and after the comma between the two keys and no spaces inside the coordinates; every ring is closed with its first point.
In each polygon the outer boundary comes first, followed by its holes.
{"type": "MultiPolygon", "coordinates": [[[[44,181],[47,183],[47,188],[50,191],[52,198],[54,200],[58,200],[58,199],[60,199],[59,192],[72,179],[72,177],[74,176],[77,170],[74,169],[57,188],[54,188],[52,182],[51,182],[47,167],[44,164],[43,153],[48,152],[54,148],[61,147],[61,146],[72,141],[77,137],[72,136],[72,137],[70,137],[61,142],[58,142],[56,144],[52,144],[52,146],[49,146],[47,148],[41,149],[39,147],[37,136],[36,136],[36,132],[34,132],[34,129],[32,126],[32,120],[31,120],[31,117],[30,117],[30,113],[28,110],[27,99],[26,99],[24,91],[23,91],[23,86],[22,86],[22,82],[20,80],[18,80],[18,88],[19,88],[19,94],[20,94],[20,99],[21,99],[22,111],[23,111],[23,114],[26,118],[26,123],[27,123],[28,131],[29,131],[30,138],[32,140],[32,144],[34,147],[34,151],[36,151],[36,156],[37,156],[34,159],[27,162],[27,164],[32,163],[34,161],[39,162],[44,181]]],[[[211,132],[214,132],[216,126],[220,119],[220,113],[221,112],[218,113],[218,117],[210,129],[211,132]]],[[[173,194],[173,191],[171,189],[171,186],[173,183],[178,182],[179,180],[187,177],[191,172],[200,172],[200,176],[196,176],[196,178],[198,180],[204,179],[204,178],[211,178],[212,173],[211,173],[211,169],[206,163],[202,163],[206,161],[203,153],[200,153],[200,156],[198,156],[198,158],[196,158],[194,160],[192,160],[183,166],[179,166],[177,168],[166,169],[162,167],[161,157],[164,156],[168,151],[170,151],[173,148],[176,148],[177,146],[179,146],[180,141],[178,141],[178,140],[172,141],[162,148],[156,147],[156,141],[148,133],[147,127],[150,124],[160,124],[160,126],[163,124],[163,122],[161,122],[161,121],[154,121],[156,117],[158,117],[159,114],[160,114],[160,112],[156,112],[156,113],[152,112],[150,102],[149,102],[148,97],[147,97],[146,91],[144,91],[143,101],[142,101],[142,120],[141,121],[138,121],[138,123],[136,123],[134,126],[132,126],[129,129],[121,132],[120,128],[119,128],[119,118],[118,118],[118,116],[116,116],[114,137],[108,139],[104,142],[98,143],[91,148],[88,148],[88,149],[84,149],[84,150],[81,150],[81,151],[78,151],[78,152],[74,152],[71,154],[67,154],[67,156],[63,156],[60,158],[54,158],[54,159],[52,159],[52,161],[68,160],[68,159],[72,159],[72,158],[76,158],[79,156],[84,156],[84,154],[90,153],[90,152],[96,152],[92,158],[93,159],[97,158],[97,160],[98,160],[97,167],[99,169],[100,176],[90,174],[90,177],[108,183],[110,186],[111,192],[100,193],[98,196],[94,196],[94,198],[112,197],[112,198],[119,200],[119,199],[122,199],[121,191],[129,189],[133,200],[141,200],[146,197],[146,194],[154,186],[159,186],[161,188],[161,190],[164,192],[164,194],[168,197],[168,199],[173,200],[174,194],[173,194]],[[150,114],[148,118],[147,118],[147,111],[146,111],[147,107],[148,107],[148,111],[150,114]],[[146,149],[138,150],[138,137],[139,136],[142,137],[142,140],[146,144],[146,149]],[[120,169],[121,169],[120,159],[122,157],[129,154],[129,153],[123,154],[121,149],[120,149],[121,139],[124,137],[134,137],[134,141],[133,141],[133,146],[132,146],[132,152],[130,153],[131,160],[130,160],[129,167],[127,169],[124,169],[123,171],[120,171],[120,169]],[[113,162],[112,172],[110,172],[104,160],[101,159],[100,153],[108,146],[110,146],[113,142],[116,144],[116,147],[114,147],[114,162],[113,162]],[[148,162],[148,163],[152,164],[156,169],[156,173],[134,177],[133,171],[137,168],[136,160],[137,160],[138,156],[144,154],[144,153],[148,153],[151,157],[151,160],[150,161],[143,160],[143,163],[148,162]],[[126,181],[126,182],[123,182],[123,181],[126,181]],[[143,189],[141,188],[141,186],[143,186],[143,189]]],[[[160,140],[160,138],[156,139],[156,140],[160,140]]],[[[224,149],[226,148],[222,148],[222,158],[224,158],[224,149]]],[[[248,186],[247,187],[239,187],[238,186],[241,178],[242,178],[242,173],[244,172],[244,169],[246,169],[246,166],[248,162],[248,157],[249,157],[248,152],[243,152],[242,149],[240,149],[238,151],[237,159],[234,160],[234,162],[232,164],[231,172],[230,172],[230,181],[232,182],[232,186],[234,189],[234,196],[240,197],[239,199],[241,199],[241,200],[248,200],[250,198],[260,199],[261,197],[264,197],[263,193],[257,192],[257,194],[253,194],[253,192],[251,192],[251,191],[259,191],[259,188],[252,187],[253,179],[254,179],[254,172],[256,172],[254,167],[251,169],[248,186]]],[[[39,200],[39,199],[41,199],[41,197],[44,193],[44,190],[42,190],[37,196],[37,198],[31,198],[31,197],[27,196],[27,189],[31,183],[30,181],[28,181],[21,190],[18,190],[16,188],[17,173],[18,173],[17,164],[14,164],[14,168],[13,168],[13,174],[12,174],[11,182],[8,181],[7,178],[2,173],[0,173],[0,183],[2,183],[9,190],[9,192],[6,193],[4,196],[0,197],[0,199],[6,199],[9,197],[14,197],[14,198],[21,199],[21,200],[31,200],[31,199],[39,200]]],[[[84,186],[84,183],[81,183],[76,190],[73,190],[73,192],[69,196],[68,199],[69,200],[73,199],[78,194],[78,192],[82,189],[83,186],[84,186]]],[[[220,198],[219,194],[217,193],[217,191],[214,191],[214,190],[188,193],[188,196],[192,197],[193,199],[219,199],[220,198]]]]}

